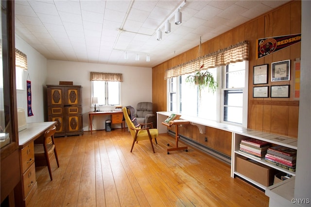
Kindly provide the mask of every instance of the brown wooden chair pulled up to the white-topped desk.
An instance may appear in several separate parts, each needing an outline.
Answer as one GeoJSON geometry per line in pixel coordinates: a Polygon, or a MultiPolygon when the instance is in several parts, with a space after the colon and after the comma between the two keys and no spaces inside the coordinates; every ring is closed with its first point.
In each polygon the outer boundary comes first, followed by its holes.
{"type": "Polygon", "coordinates": [[[58,156],[56,152],[56,146],[54,142],[54,134],[56,132],[56,126],[53,126],[51,129],[48,129],[44,133],[44,143],[43,144],[35,144],[35,166],[48,166],[50,178],[52,178],[51,171],[51,162],[50,158],[54,154],[57,162],[57,167],[59,167],[58,156]],[[49,138],[51,140],[49,141],[49,138]],[[51,143],[52,142],[52,143],[51,143]]]}

